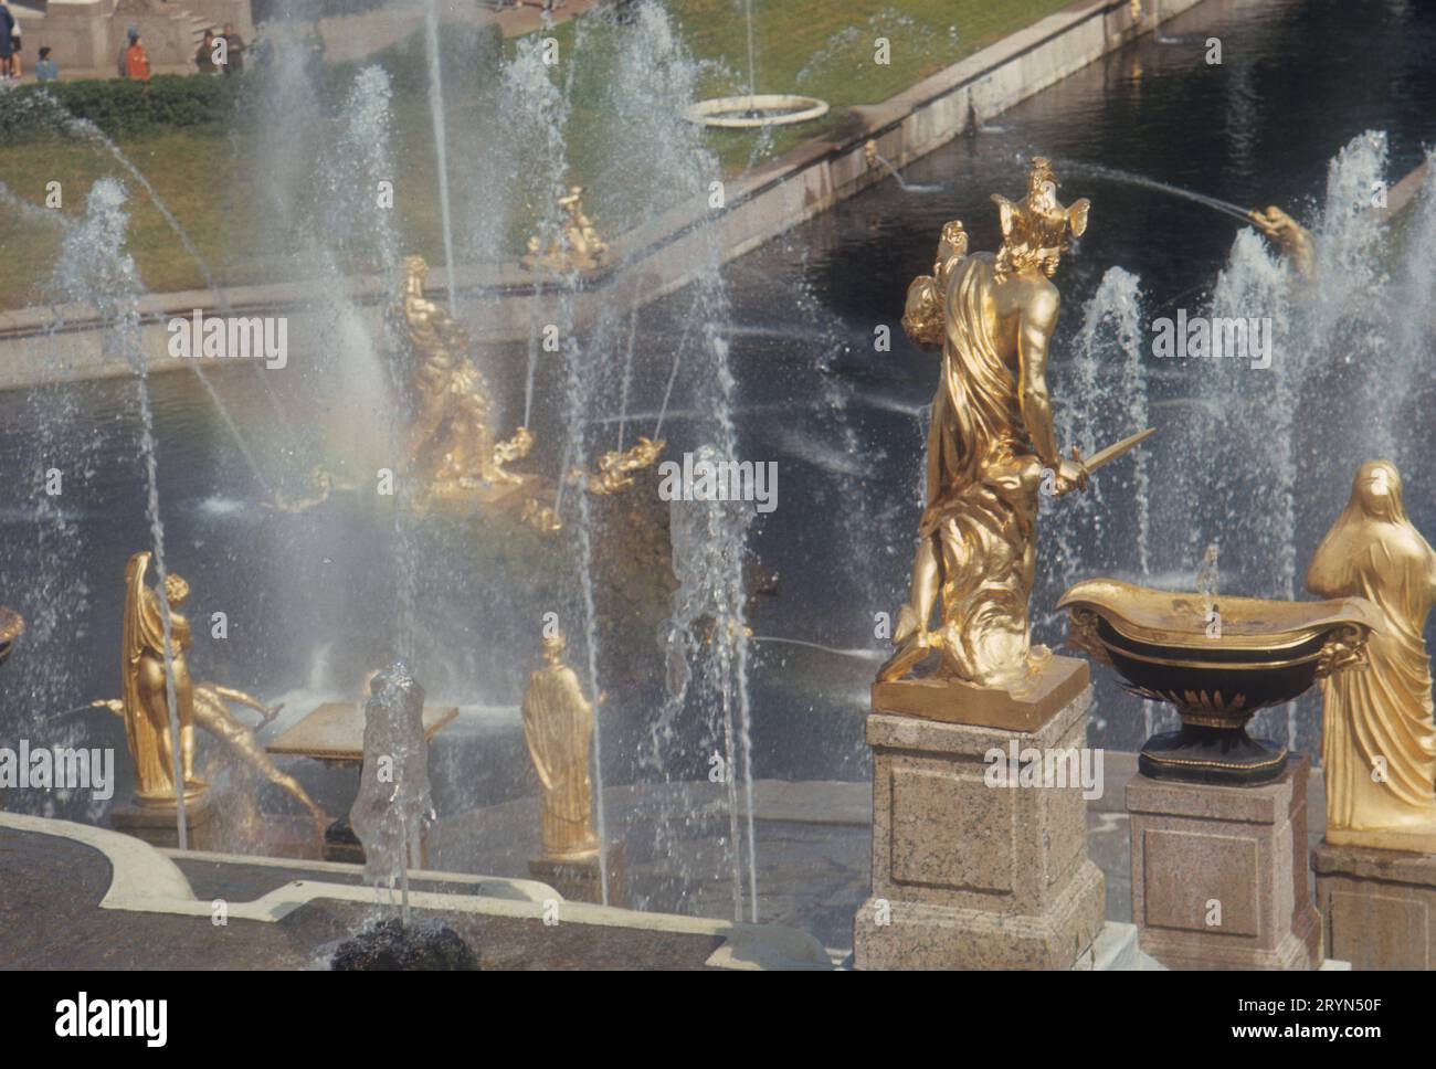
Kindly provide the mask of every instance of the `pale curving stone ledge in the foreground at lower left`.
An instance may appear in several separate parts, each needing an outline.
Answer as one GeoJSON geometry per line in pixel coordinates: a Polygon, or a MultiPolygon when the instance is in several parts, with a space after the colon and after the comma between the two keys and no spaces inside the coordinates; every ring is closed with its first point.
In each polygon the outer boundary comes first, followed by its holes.
{"type": "MultiPolygon", "coordinates": [[[[211,917],[208,901],[195,898],[190,881],[180,867],[164,852],[129,835],[70,821],[0,812],[0,828],[53,835],[80,842],[102,852],[111,862],[111,884],[101,900],[101,908],[131,913],[169,914],[175,917],[211,917]]],[[[197,854],[210,861],[231,861],[241,865],[273,864],[294,868],[296,864],[316,872],[343,870],[362,871],[360,865],[336,862],[296,862],[289,858],[256,858],[247,854],[197,854]]],[[[823,947],[806,931],[780,926],[740,924],[705,917],[642,913],[607,905],[564,901],[547,884],[533,880],[504,877],[464,877],[461,874],[416,871],[415,878],[444,882],[472,881],[480,893],[457,895],[434,891],[411,891],[414,910],[437,913],[468,913],[495,917],[543,920],[546,901],[563,903],[564,924],[626,927],[653,933],[721,936],[724,944],[705,964],[718,969],[807,969],[829,970],[831,960],[823,947]],[[490,887],[505,891],[505,897],[484,894],[490,887]]],[[[248,903],[228,903],[231,920],[276,923],[296,910],[319,900],[372,904],[373,888],[365,884],[335,884],[322,880],[294,880],[248,903]]]]}

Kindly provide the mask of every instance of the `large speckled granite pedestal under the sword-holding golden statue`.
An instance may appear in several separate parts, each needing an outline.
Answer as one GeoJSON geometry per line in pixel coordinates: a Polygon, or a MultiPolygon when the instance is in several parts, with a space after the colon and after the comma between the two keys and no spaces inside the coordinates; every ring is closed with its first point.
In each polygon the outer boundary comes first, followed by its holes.
{"type": "Polygon", "coordinates": [[[1086,746],[1086,661],[1053,657],[1044,676],[1027,699],[961,683],[873,687],[873,891],[853,920],[857,969],[1071,969],[1091,947],[1103,878],[1081,786],[989,785],[994,750],[1005,769],[1014,743],[1044,758],[1086,746]],[[899,702],[942,719],[882,710],[899,702]],[[1037,726],[956,722],[968,706],[1037,726]]]}

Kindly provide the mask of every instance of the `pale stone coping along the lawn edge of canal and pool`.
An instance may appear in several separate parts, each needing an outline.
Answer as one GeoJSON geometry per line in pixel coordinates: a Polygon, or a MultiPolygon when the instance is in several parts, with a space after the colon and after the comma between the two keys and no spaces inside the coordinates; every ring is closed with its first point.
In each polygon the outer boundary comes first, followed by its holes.
{"type": "MultiPolygon", "coordinates": [[[[837,201],[883,181],[887,172],[870,169],[863,158],[863,145],[869,139],[882,142],[883,156],[895,168],[905,166],[951,141],[969,122],[1001,113],[1199,1],[1163,0],[1156,13],[1144,13],[1134,22],[1127,0],[1076,0],[883,103],[854,106],[852,115],[857,122],[844,123],[841,133],[830,131],[801,142],[777,159],[725,182],[727,207],[719,217],[722,258],[727,261],[742,255],[837,201]],[[1090,23],[1099,19],[1104,23],[1090,44],[1070,40],[1073,34],[1093,33],[1090,23]],[[1061,55],[1067,44],[1078,50],[1061,55]],[[1024,60],[1045,50],[1053,53],[1050,59],[1044,56],[1047,76],[1027,76],[1028,72],[1021,69],[1024,60]],[[974,100],[971,93],[975,90],[987,90],[989,99],[974,100]],[[968,99],[956,100],[962,93],[968,93],[968,99]],[[943,113],[939,115],[939,110],[943,113]]],[[[454,273],[454,293],[465,300],[531,298],[560,283],[580,293],[592,291],[612,286],[622,276],[638,274],[628,268],[642,265],[646,268],[642,273],[645,277],[633,280],[636,293],[632,297],[648,303],[692,280],[695,258],[686,255],[682,242],[704,230],[711,218],[707,198],[702,204],[676,205],[648,224],[616,237],[612,242],[612,267],[577,278],[536,276],[517,263],[458,267],[454,273]],[[675,255],[663,257],[668,250],[675,255]]],[[[327,288],[330,287],[323,284],[296,281],[158,293],[141,301],[141,316],[146,321],[159,321],[188,314],[194,309],[225,314],[257,309],[283,311],[303,307],[306,294],[327,288]]],[[[345,288],[350,300],[360,306],[376,306],[389,297],[376,276],[350,277],[345,288]]],[[[441,265],[432,265],[428,293],[442,296],[448,290],[447,271],[441,265]]],[[[9,339],[53,333],[56,313],[63,314],[65,333],[95,330],[101,324],[93,309],[82,306],[6,311],[0,313],[0,346],[9,339]]],[[[508,316],[507,324],[503,323],[504,316],[493,319],[497,323],[493,330],[487,330],[488,324],[482,321],[475,324],[474,334],[478,340],[514,340],[514,323],[518,320],[524,323],[523,333],[527,336],[527,313],[508,316]]],[[[152,370],[175,370],[182,366],[185,362],[157,362],[152,370]]],[[[82,377],[99,373],[86,367],[73,370],[82,377]]],[[[11,380],[0,383],[3,385],[19,383],[11,380]]]]}

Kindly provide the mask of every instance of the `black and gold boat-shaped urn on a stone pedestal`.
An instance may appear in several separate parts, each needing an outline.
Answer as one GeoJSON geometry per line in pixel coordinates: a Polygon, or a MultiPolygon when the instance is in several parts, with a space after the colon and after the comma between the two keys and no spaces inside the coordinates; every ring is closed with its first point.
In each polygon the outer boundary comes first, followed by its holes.
{"type": "Polygon", "coordinates": [[[1287,746],[1254,739],[1258,709],[1285,705],[1331,672],[1366,667],[1380,620],[1366,598],[1267,601],[1088,580],[1063,594],[1068,643],[1124,687],[1176,706],[1182,727],[1153,735],[1137,768],[1155,779],[1252,785],[1281,776],[1287,746]]]}

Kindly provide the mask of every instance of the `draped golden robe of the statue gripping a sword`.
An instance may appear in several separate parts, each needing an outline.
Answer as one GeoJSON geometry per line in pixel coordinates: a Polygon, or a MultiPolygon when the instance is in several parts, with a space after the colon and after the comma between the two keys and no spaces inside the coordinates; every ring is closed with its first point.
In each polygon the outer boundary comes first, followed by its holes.
{"type": "Polygon", "coordinates": [[[1010,686],[1030,670],[1027,606],[1043,465],[1022,422],[1014,369],[988,330],[997,321],[995,286],[988,253],[965,257],[948,274],[919,534],[936,535],[941,547],[943,673],[1010,686]]]}

